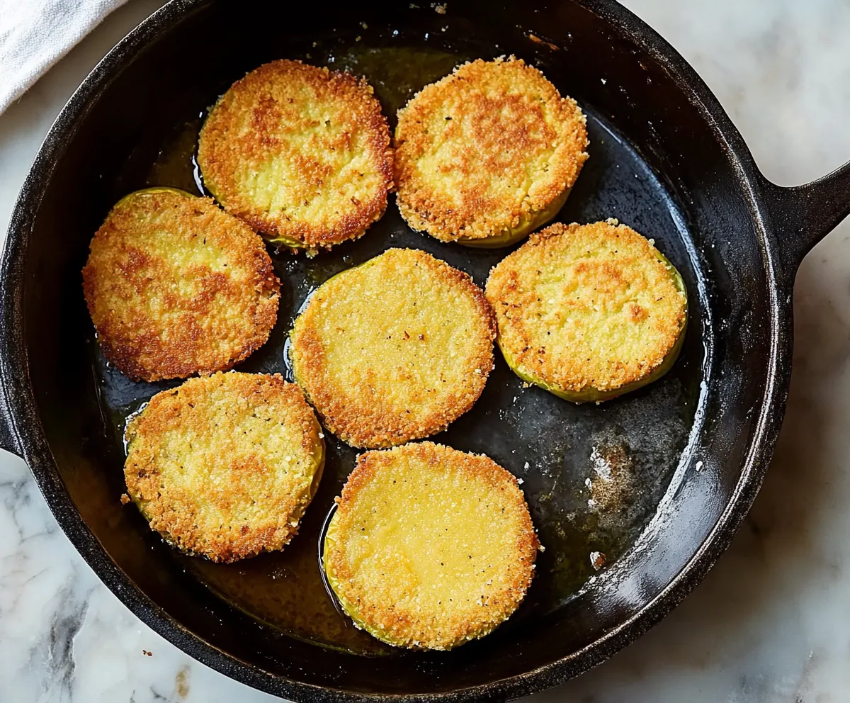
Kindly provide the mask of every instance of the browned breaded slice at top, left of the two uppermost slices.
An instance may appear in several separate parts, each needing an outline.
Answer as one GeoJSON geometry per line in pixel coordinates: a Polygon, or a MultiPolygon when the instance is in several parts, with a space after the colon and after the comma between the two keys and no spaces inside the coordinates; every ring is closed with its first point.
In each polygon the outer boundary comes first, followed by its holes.
{"type": "Polygon", "coordinates": [[[261,65],[229,88],[201,128],[198,164],[224,209],[289,247],[356,239],[393,184],[371,86],[300,61],[261,65]]]}

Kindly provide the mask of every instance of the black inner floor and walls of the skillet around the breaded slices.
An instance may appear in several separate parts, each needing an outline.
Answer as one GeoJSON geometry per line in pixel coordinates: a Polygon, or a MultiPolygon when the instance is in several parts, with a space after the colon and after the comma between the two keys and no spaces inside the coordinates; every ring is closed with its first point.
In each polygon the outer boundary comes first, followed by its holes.
{"type": "MultiPolygon", "coordinates": [[[[115,78],[55,167],[27,263],[26,333],[42,422],[73,502],[137,587],[250,670],[338,689],[420,693],[575,655],[658,596],[740,478],[735,462],[757,410],[767,303],[734,164],[656,58],[579,4],[250,7],[195,3],[115,78]],[[524,479],[547,549],[526,602],[493,635],[447,654],[407,653],[354,630],[321,586],[320,524],[354,465],[354,451],[336,439],[328,438],[326,473],[301,534],[280,554],[232,565],[184,557],[133,506],[121,506],[127,415],[175,383],[133,383],[105,362],[79,270],[119,197],[150,185],[201,189],[193,159],[204,111],[264,61],[299,58],[363,74],[394,124],[394,111],[416,89],[462,60],[512,53],[540,66],[587,113],[591,158],[558,220],[618,218],[653,237],[688,286],[689,332],[660,382],[601,405],[526,388],[497,354],[479,403],[434,439],[484,452],[524,479]],[[599,553],[601,570],[592,564],[599,553]]],[[[479,285],[509,251],[411,232],[392,201],[362,240],[330,253],[271,249],[282,282],[278,323],[240,369],[288,374],[286,332],[309,292],[388,247],[432,252],[479,285]]]]}

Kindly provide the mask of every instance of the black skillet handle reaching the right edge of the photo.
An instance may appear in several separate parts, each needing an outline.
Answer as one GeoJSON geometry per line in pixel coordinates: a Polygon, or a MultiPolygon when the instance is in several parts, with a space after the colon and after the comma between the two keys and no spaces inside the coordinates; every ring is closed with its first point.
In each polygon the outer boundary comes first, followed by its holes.
{"type": "Polygon", "coordinates": [[[850,162],[812,183],[785,188],[766,180],[765,185],[768,217],[786,278],[793,283],[803,257],[850,214],[850,162]]]}

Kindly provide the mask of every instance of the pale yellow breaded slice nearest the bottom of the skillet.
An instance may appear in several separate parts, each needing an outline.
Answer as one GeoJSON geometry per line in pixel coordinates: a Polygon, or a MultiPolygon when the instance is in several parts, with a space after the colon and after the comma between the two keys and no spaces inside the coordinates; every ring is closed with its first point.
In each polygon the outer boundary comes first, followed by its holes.
{"type": "Polygon", "coordinates": [[[327,580],[383,642],[451,649],[525,597],[540,543],[517,479],[489,457],[431,442],[367,451],[337,503],[327,580]]]}

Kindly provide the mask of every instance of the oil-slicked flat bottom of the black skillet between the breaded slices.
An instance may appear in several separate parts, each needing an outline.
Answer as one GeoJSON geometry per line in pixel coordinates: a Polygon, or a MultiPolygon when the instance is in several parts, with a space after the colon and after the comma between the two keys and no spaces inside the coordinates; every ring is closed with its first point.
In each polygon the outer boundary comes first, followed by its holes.
{"type": "MultiPolygon", "coordinates": [[[[354,43],[317,46],[310,56],[294,58],[365,75],[394,124],[395,111],[419,88],[474,56],[439,48],[370,48],[354,43]]],[[[152,134],[149,142],[133,151],[116,181],[116,200],[151,185],[201,192],[194,161],[197,133],[205,106],[215,98],[207,96],[171,133],[152,134]]],[[[620,212],[623,202],[650,203],[641,215],[643,224],[636,220],[632,224],[641,224],[643,231],[654,236],[693,290],[689,254],[669,203],[660,201],[660,184],[637,152],[587,105],[585,108],[591,158],[558,220],[593,221],[599,213],[620,212]],[[636,179],[636,173],[643,178],[636,179]]],[[[388,247],[425,249],[467,271],[479,285],[507,253],[456,247],[412,232],[393,201],[364,237],[331,252],[310,258],[303,252],[270,247],[281,281],[277,325],[269,342],[239,370],[289,376],[286,338],[309,294],[331,275],[388,247]]],[[[485,453],[522,480],[545,551],[538,557],[536,579],[526,603],[503,626],[513,628],[523,626],[526,619],[550,615],[573,598],[588,578],[612,568],[655,513],[694,422],[703,359],[700,320],[691,320],[680,359],[666,377],[601,405],[574,405],[527,386],[507,368],[498,352],[496,357],[496,368],[479,402],[432,439],[462,451],[485,453]]],[[[101,416],[114,439],[116,456],[123,456],[127,416],[151,395],[179,382],[133,383],[107,367],[96,349],[93,369],[101,416]]],[[[356,456],[356,451],[330,434],[326,441],[320,489],[299,534],[282,552],[235,564],[213,564],[173,550],[163,552],[173,555],[179,568],[236,608],[293,637],[363,655],[392,654],[397,650],[355,629],[337,611],[320,577],[317,549],[322,523],[354,468],[356,456]]],[[[120,466],[115,469],[121,471],[120,466]]],[[[492,637],[498,637],[498,632],[492,637]]]]}

